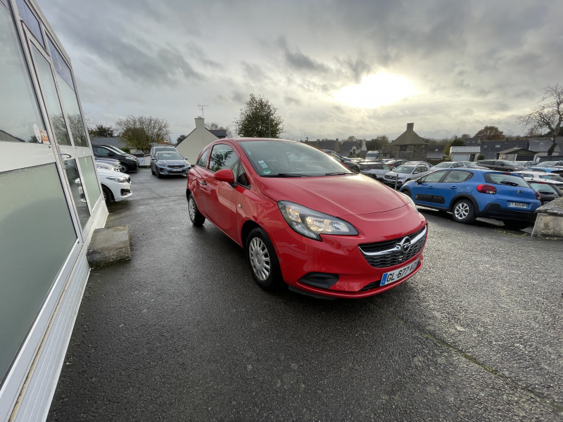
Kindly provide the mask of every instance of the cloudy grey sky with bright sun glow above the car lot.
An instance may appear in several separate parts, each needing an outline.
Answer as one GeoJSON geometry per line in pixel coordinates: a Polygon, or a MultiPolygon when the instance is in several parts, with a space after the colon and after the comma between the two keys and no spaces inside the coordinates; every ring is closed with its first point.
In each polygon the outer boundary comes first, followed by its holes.
{"type": "Polygon", "coordinates": [[[286,139],[430,139],[517,116],[563,84],[561,0],[37,0],[93,122],[235,130],[250,94],[286,139]]]}

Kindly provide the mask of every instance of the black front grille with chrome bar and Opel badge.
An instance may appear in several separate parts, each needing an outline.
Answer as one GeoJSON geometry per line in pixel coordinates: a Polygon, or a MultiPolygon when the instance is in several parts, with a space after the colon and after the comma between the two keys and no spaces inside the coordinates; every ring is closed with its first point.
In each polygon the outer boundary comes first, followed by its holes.
{"type": "Polygon", "coordinates": [[[369,265],[374,268],[386,268],[410,260],[410,258],[422,250],[425,241],[426,226],[402,238],[396,238],[392,241],[367,243],[358,247],[369,265]],[[407,237],[410,238],[410,248],[405,252],[400,245],[407,237]]]}

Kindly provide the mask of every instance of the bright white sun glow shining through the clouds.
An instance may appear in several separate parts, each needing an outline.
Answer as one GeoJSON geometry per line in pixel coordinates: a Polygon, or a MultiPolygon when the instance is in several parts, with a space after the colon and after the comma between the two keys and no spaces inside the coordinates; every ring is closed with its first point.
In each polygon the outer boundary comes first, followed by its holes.
{"type": "Polygon", "coordinates": [[[377,108],[396,103],[413,94],[415,87],[405,77],[379,72],[364,77],[358,85],[344,87],[335,94],[335,98],[351,107],[377,108]]]}

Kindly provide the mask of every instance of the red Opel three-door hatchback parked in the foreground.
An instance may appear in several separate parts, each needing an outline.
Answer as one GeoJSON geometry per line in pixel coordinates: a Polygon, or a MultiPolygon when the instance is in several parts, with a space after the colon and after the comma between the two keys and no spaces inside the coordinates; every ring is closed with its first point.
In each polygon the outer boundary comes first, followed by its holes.
{"type": "Polygon", "coordinates": [[[365,298],[422,267],[427,224],[412,200],[305,143],[210,143],[186,198],[192,224],[208,219],[245,248],[266,290],[365,298]]]}

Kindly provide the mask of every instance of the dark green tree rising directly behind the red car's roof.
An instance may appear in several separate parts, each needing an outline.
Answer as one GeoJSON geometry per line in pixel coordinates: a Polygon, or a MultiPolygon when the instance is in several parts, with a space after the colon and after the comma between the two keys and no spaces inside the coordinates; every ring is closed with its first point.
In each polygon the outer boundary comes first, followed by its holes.
{"type": "Polygon", "coordinates": [[[284,132],[284,120],[277,115],[277,108],[267,98],[251,94],[238,120],[239,136],[251,138],[279,138],[284,132]]]}

